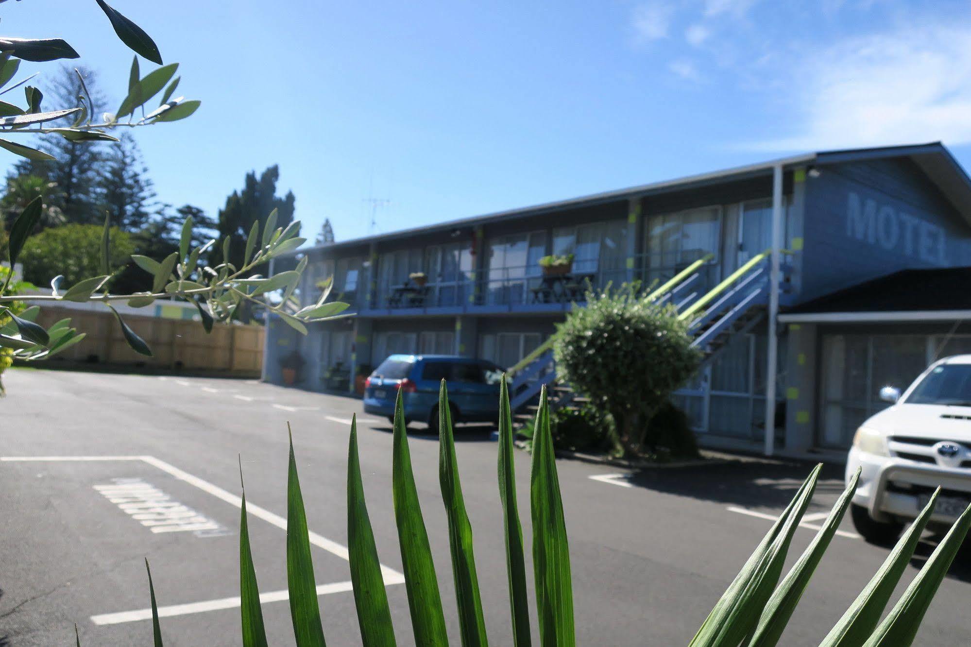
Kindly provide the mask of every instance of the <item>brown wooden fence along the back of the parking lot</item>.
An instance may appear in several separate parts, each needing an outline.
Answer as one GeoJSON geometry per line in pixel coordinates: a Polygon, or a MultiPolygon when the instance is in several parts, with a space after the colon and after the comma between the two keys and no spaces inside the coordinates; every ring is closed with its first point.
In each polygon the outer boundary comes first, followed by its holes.
{"type": "Polygon", "coordinates": [[[72,363],[138,365],[187,372],[213,372],[258,376],[263,366],[263,327],[216,323],[209,334],[202,323],[124,315],[124,321],[148,342],[153,357],[135,353],[128,347],[115,316],[108,311],[84,311],[45,305],[37,323],[50,326],[71,318],[71,324],[84,339],[57,354],[72,363]]]}

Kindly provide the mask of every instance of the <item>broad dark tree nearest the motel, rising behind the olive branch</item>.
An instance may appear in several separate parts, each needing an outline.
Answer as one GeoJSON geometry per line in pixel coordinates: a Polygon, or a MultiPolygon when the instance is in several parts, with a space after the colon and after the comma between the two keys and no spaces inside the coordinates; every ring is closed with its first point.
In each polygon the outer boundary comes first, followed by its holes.
{"type": "Polygon", "coordinates": [[[226,206],[219,210],[218,231],[220,239],[223,236],[232,237],[229,259],[236,267],[242,266],[243,255],[246,253],[246,240],[250,235],[252,223],[266,221],[270,212],[277,209],[277,226],[286,226],[293,221],[293,208],[296,198],[293,191],[287,191],[284,197],[277,196],[277,181],[280,179],[280,167],[270,166],[259,180],[256,173],[246,174],[242,191],[233,191],[226,198],[226,206]]]}

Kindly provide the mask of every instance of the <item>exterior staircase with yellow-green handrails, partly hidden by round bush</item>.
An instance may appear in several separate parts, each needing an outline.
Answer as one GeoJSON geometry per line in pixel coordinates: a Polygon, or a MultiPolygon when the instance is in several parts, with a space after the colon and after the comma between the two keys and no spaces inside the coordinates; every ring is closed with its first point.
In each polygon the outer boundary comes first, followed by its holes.
{"type": "MultiPolygon", "coordinates": [[[[784,254],[789,253],[784,251],[784,254]]],[[[771,291],[771,253],[766,250],[732,272],[715,288],[701,293],[700,270],[711,258],[712,255],[699,258],[645,297],[657,304],[673,304],[678,317],[689,322],[688,331],[694,338],[691,345],[703,353],[702,366],[717,358],[735,335],[752,330],[766,319],[771,291]]],[[[785,302],[785,295],[790,291],[791,265],[785,258],[780,266],[781,302],[785,302]]],[[[512,379],[510,406],[514,424],[518,426],[531,423],[535,418],[537,398],[544,386],[548,388],[552,410],[586,401],[569,385],[557,383],[552,338],[507,369],[507,375],[512,379]]]]}

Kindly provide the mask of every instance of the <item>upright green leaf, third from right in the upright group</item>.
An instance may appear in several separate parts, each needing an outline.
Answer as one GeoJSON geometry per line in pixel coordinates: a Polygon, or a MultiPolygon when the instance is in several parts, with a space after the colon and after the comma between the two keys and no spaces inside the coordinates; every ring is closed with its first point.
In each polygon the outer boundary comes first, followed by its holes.
{"type": "Polygon", "coordinates": [[[479,596],[472,524],[465,512],[462,484],[458,478],[458,460],[455,457],[455,439],[452,436],[452,411],[449,408],[449,392],[445,380],[442,380],[438,391],[438,430],[438,479],[442,487],[445,512],[449,518],[449,546],[452,549],[452,578],[458,604],[458,628],[464,647],[485,646],[488,640],[485,637],[483,603],[479,596]]]}

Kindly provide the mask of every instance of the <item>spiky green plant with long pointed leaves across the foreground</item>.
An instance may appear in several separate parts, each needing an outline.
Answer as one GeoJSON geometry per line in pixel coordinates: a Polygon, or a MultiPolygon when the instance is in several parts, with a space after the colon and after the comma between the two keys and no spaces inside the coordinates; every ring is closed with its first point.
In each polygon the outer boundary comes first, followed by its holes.
{"type": "MultiPolygon", "coordinates": [[[[529,611],[526,597],[526,569],[523,559],[522,530],[516,497],[513,466],[513,429],[509,394],[505,382],[500,392],[499,415],[499,492],[504,511],[509,596],[512,607],[512,644],[530,644],[529,611]]],[[[472,527],[458,479],[458,463],[452,439],[452,417],[448,392],[443,381],[439,392],[440,480],[449,519],[452,577],[458,608],[458,626],[463,646],[485,645],[485,614],[479,595],[472,527]]],[[[351,561],[354,603],[361,630],[361,643],[367,647],[395,644],[388,610],[381,562],[364,501],[360,462],[357,457],[357,425],[351,423],[348,452],[348,553],[351,561]]],[[[405,585],[411,609],[412,629],[418,645],[447,645],[445,612],[438,590],[438,579],[421,517],[418,493],[408,453],[401,394],[395,405],[393,438],[393,477],[395,520],[398,525],[405,585]]],[[[853,499],[859,472],[833,505],[825,523],[802,556],[785,577],[783,567],[795,528],[816,490],[821,465],[817,465],[792,497],[786,510],[769,529],[735,580],[721,596],[702,623],[689,647],[771,647],[780,641],[799,598],[806,590],[813,571],[822,559],[830,540],[853,499]]],[[[824,637],[820,647],[907,647],[917,634],[930,600],[948,572],[954,555],[971,526],[971,506],[954,523],[947,536],[924,563],[907,591],[883,622],[880,621],[893,589],[914,553],[921,531],[930,519],[937,500],[931,496],[921,515],[900,537],[887,561],[856,597],[840,621],[824,637]]],[[[563,517],[562,500],[553,460],[552,435],[546,392],[542,393],[536,415],[533,441],[530,508],[533,524],[533,566],[536,589],[536,615],[540,642],[544,647],[575,644],[573,594],[570,584],[570,559],[563,517]]],[[[240,596],[243,644],[267,644],[256,588],[256,574],[250,551],[244,494],[240,519],[240,596]]],[[[317,592],[307,519],[304,514],[300,482],[297,479],[290,437],[289,477],[287,480],[286,570],[289,578],[290,612],[297,645],[324,644],[320,629],[317,592]]],[[[148,562],[146,562],[148,567],[148,562]]],[[[154,589],[151,586],[152,630],[154,644],[161,645],[154,589]]],[[[80,641],[78,642],[80,646],[80,641]]]]}

